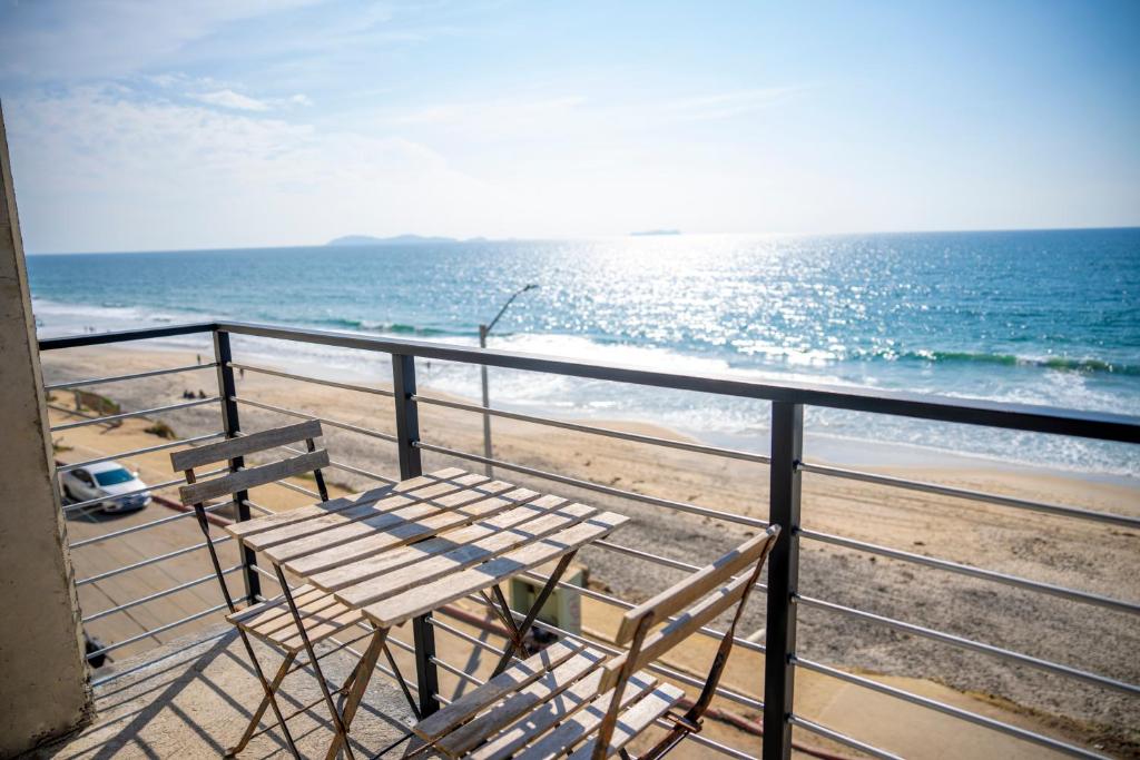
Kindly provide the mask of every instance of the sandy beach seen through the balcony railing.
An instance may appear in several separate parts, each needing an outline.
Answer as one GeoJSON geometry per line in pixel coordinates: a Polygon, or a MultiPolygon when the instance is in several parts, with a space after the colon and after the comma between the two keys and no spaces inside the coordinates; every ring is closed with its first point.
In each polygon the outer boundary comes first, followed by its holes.
{"type": "MultiPolygon", "coordinates": [[[[42,354],[47,383],[194,361],[193,353],[113,346],[42,354]]],[[[382,384],[376,386],[383,387],[382,384]]],[[[91,390],[119,402],[123,410],[135,410],[174,403],[184,391],[199,389],[207,394],[214,392],[212,369],[91,390]]],[[[443,398],[430,385],[421,392],[443,398]]],[[[252,371],[245,373],[238,382],[238,394],[394,432],[391,400],[374,394],[302,384],[252,371]]],[[[280,415],[251,407],[242,407],[241,414],[243,428],[251,431],[286,422],[280,415]]],[[[219,430],[213,404],[165,414],[162,419],[180,438],[219,430]]],[[[482,449],[479,415],[422,404],[420,419],[421,435],[426,442],[469,452],[482,449]]],[[[645,423],[610,420],[602,424],[660,438],[679,438],[674,431],[645,423]]],[[[57,442],[74,447],[72,450],[78,453],[129,450],[145,446],[145,442],[135,441],[146,439],[147,434],[141,433],[137,424],[111,431],[84,427],[56,436],[57,442]]],[[[764,465],[506,419],[494,420],[494,441],[497,458],[527,467],[762,520],[767,514],[767,468],[764,465]]],[[[158,442],[149,436],[150,446],[158,442]]],[[[398,473],[391,443],[327,427],[326,444],[339,461],[385,475],[398,473]]],[[[834,449],[829,449],[828,453],[829,459],[813,457],[809,439],[806,458],[850,464],[837,458],[834,449]]],[[[165,453],[155,455],[163,456],[165,453]]],[[[152,471],[161,467],[155,457],[147,460],[152,471]]],[[[425,468],[449,465],[480,468],[470,461],[431,452],[424,453],[424,461],[425,468]]],[[[1140,490],[1125,483],[996,463],[987,466],[977,461],[964,466],[964,461],[968,460],[951,458],[951,466],[944,467],[925,464],[869,467],[862,461],[858,466],[952,487],[1140,516],[1140,490]]],[[[496,474],[504,480],[628,514],[634,521],[616,534],[616,542],[678,561],[703,564],[748,534],[744,526],[716,518],[668,512],[518,473],[496,474]]],[[[169,480],[173,475],[168,466],[165,472],[145,472],[145,476],[169,480]]],[[[341,471],[329,471],[329,477],[344,490],[358,490],[368,483],[341,471]]],[[[813,474],[805,474],[803,485],[803,522],[807,530],[1129,602],[1140,600],[1140,579],[1134,572],[1140,536],[1130,530],[813,474]]],[[[296,497],[292,501],[291,497],[280,495],[275,498],[282,499],[280,506],[306,501],[302,495],[292,496],[296,497]]],[[[805,597],[849,605],[1126,681],[1140,680],[1140,660],[1133,656],[1140,649],[1140,631],[1126,614],[809,540],[803,541],[801,551],[800,593],[805,597]]],[[[632,602],[646,598],[679,577],[676,571],[596,548],[585,551],[580,561],[588,566],[593,588],[632,602]]],[[[763,604],[751,604],[742,626],[744,635],[762,630],[763,623],[763,604]]],[[[591,626],[588,610],[586,624],[591,626]]],[[[1003,719],[1016,716],[1056,735],[1097,744],[1114,754],[1140,753],[1140,704],[1119,692],[1015,667],[985,654],[807,605],[800,605],[799,610],[798,649],[801,657],[852,672],[918,679],[929,688],[966,694],[993,705],[1003,719]]],[[[799,678],[805,675],[800,673],[799,678]]],[[[836,688],[839,688],[838,683],[836,688]]]]}

